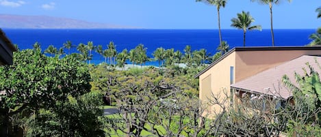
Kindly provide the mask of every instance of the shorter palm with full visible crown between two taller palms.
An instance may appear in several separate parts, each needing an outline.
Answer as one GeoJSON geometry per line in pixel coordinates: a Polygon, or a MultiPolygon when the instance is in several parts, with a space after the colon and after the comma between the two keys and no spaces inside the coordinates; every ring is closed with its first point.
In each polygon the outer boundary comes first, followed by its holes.
{"type": "Polygon", "coordinates": [[[250,15],[250,12],[244,12],[242,11],[241,14],[237,14],[237,18],[232,18],[232,24],[231,27],[235,27],[237,29],[243,29],[243,46],[245,46],[245,34],[246,31],[252,31],[252,30],[260,30],[260,25],[254,25],[251,26],[251,23],[254,22],[254,18],[250,15]]]}

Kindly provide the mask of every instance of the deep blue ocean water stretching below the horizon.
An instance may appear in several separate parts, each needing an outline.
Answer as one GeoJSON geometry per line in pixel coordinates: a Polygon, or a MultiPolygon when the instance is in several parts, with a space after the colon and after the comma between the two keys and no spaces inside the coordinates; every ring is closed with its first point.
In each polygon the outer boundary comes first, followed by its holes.
{"type": "MultiPolygon", "coordinates": [[[[113,41],[118,52],[127,48],[130,50],[138,44],[144,44],[147,55],[152,57],[153,51],[158,47],[175,48],[181,50],[186,45],[192,46],[192,50],[205,48],[214,55],[219,44],[217,29],[3,29],[12,43],[18,44],[20,49],[32,48],[35,42],[40,42],[42,50],[49,45],[57,48],[70,40],[73,44],[103,45],[113,41]]],[[[275,29],[274,40],[276,46],[303,46],[309,44],[309,35],[315,29],[275,29]]],[[[243,46],[243,31],[237,29],[222,29],[222,39],[227,41],[231,48],[243,46]]],[[[248,31],[246,33],[246,46],[271,46],[270,29],[262,31],[248,31]]],[[[68,52],[65,50],[65,52],[68,52]]],[[[71,52],[77,52],[73,48],[71,52]]],[[[94,63],[99,60],[99,55],[94,52],[94,63]]]]}

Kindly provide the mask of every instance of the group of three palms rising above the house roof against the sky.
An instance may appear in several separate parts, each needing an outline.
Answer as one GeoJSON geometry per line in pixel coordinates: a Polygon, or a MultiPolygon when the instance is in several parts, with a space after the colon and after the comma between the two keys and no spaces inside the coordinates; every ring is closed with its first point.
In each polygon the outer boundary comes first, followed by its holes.
{"type": "MultiPolygon", "coordinates": [[[[220,31],[220,8],[225,7],[227,4],[227,0],[196,0],[196,1],[202,1],[204,3],[207,3],[209,5],[216,6],[216,10],[218,12],[218,34],[220,37],[220,45],[218,47],[224,48],[224,45],[222,41],[222,34],[220,31]]],[[[281,0],[251,0],[251,1],[257,1],[259,3],[262,3],[264,5],[268,5],[270,8],[270,23],[271,23],[271,36],[272,36],[272,46],[274,46],[274,32],[273,32],[273,14],[272,14],[272,7],[273,5],[277,5],[281,2],[281,0]]],[[[287,0],[291,2],[292,0],[287,0]]],[[[261,30],[261,26],[251,26],[251,22],[254,22],[254,19],[250,16],[249,12],[242,12],[240,14],[237,14],[237,18],[232,18],[232,27],[235,27],[237,29],[243,29],[244,35],[243,35],[243,45],[245,46],[245,34],[246,30],[254,30],[258,29],[261,30]]],[[[222,51],[222,50],[221,50],[222,51]]],[[[221,53],[222,54],[222,53],[221,53]]]]}

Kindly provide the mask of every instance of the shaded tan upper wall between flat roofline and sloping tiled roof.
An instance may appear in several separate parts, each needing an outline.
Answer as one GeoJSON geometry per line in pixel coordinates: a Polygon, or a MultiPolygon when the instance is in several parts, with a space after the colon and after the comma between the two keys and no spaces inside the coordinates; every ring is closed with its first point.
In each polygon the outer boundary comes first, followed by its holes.
{"type": "Polygon", "coordinates": [[[321,55],[321,49],[237,51],[235,55],[235,82],[302,55],[321,55]]]}

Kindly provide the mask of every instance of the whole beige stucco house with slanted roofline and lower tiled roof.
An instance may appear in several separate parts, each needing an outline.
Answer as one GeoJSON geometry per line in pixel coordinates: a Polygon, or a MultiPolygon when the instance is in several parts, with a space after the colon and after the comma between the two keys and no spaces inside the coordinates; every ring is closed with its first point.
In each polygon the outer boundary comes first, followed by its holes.
{"type": "MultiPolygon", "coordinates": [[[[287,100],[292,96],[281,82],[286,74],[292,82],[294,72],[303,74],[308,62],[320,72],[321,46],[242,47],[233,48],[203,71],[199,78],[199,98],[203,103],[211,95],[231,98],[226,105],[240,103],[242,95],[267,95],[287,100]]],[[[203,115],[220,112],[220,107],[209,106],[203,115]]]]}

